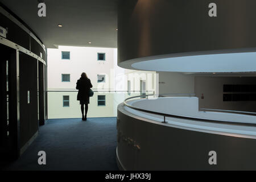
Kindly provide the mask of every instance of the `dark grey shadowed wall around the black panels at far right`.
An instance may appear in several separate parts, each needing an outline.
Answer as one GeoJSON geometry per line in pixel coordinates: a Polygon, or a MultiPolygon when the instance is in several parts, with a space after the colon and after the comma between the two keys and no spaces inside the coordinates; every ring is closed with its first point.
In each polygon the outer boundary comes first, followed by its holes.
{"type": "Polygon", "coordinates": [[[195,77],[199,108],[256,111],[255,101],[223,101],[224,84],[256,84],[256,77],[195,77]],[[204,98],[201,98],[204,94],[204,98]]]}

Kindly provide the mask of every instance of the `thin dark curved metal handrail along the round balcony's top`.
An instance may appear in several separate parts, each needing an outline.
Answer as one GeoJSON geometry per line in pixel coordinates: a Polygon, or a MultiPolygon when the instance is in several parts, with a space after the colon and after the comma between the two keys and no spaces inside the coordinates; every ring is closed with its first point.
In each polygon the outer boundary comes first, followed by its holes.
{"type": "MultiPolygon", "coordinates": [[[[222,123],[222,124],[224,123],[224,124],[228,124],[228,125],[256,126],[256,123],[241,123],[241,122],[232,122],[232,121],[219,121],[219,120],[214,120],[214,119],[194,118],[194,117],[188,117],[188,116],[184,116],[184,115],[159,113],[157,111],[141,109],[139,107],[135,107],[135,106],[132,106],[132,105],[127,103],[127,100],[130,100],[131,98],[137,98],[137,97],[146,97],[146,98],[148,98],[148,96],[158,96],[159,97],[159,96],[166,96],[166,95],[167,94],[148,94],[148,95],[142,95],[142,96],[133,96],[133,97],[126,98],[126,100],[123,101],[123,105],[127,106],[127,107],[130,107],[131,109],[143,111],[143,112],[146,112],[146,113],[162,115],[164,117],[163,123],[167,123],[166,122],[166,117],[171,117],[171,118],[178,118],[178,119],[195,120],[195,121],[200,121],[200,122],[213,122],[213,123],[222,123]]],[[[170,95],[170,96],[179,96],[179,95],[189,95],[189,94],[168,94],[168,95],[170,95]]]]}

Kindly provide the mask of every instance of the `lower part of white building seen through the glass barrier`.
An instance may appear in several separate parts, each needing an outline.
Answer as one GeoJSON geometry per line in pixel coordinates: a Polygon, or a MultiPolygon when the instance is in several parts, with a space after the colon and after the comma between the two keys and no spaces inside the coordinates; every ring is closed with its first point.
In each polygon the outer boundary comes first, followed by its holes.
{"type": "MultiPolygon", "coordinates": [[[[77,91],[51,90],[48,91],[47,94],[48,119],[81,117],[82,114],[80,104],[79,101],[77,101],[77,91]],[[69,106],[64,106],[66,104],[69,106]]],[[[146,92],[146,94],[154,94],[154,92],[146,92]]],[[[130,91],[128,93],[94,90],[93,97],[90,97],[90,104],[87,117],[117,117],[118,104],[123,102],[123,100],[125,100],[128,97],[140,95],[141,92],[130,91]]]]}

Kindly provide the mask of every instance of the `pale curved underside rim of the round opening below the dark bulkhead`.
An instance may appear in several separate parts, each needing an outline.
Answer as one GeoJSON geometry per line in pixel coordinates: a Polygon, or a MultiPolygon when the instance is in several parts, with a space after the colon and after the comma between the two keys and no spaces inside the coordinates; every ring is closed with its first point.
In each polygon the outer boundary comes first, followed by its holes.
{"type": "Polygon", "coordinates": [[[118,63],[119,67],[143,71],[226,73],[256,72],[256,48],[184,52],[140,57],[118,63]]]}

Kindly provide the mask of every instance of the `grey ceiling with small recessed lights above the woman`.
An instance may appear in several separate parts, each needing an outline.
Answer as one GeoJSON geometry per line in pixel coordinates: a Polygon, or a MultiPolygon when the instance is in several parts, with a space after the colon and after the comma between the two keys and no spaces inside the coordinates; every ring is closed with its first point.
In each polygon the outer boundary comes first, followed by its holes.
{"type": "Polygon", "coordinates": [[[0,0],[27,23],[47,48],[117,48],[117,1],[44,0],[46,17],[40,18],[37,0],[0,0]],[[63,27],[58,27],[58,24],[62,24],[63,27]]]}

